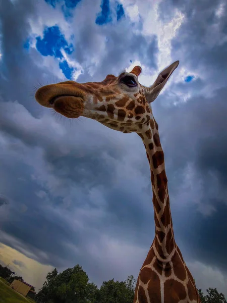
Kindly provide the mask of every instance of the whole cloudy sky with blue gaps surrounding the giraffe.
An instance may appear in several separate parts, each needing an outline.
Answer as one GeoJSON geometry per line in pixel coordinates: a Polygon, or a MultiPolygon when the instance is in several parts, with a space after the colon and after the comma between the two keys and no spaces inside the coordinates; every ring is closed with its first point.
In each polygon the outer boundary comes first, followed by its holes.
{"type": "Polygon", "coordinates": [[[154,237],[141,138],[41,107],[41,85],[140,65],[152,85],[175,238],[198,288],[227,297],[224,0],[0,0],[0,263],[35,286],[76,264],[137,279],[154,237]]]}

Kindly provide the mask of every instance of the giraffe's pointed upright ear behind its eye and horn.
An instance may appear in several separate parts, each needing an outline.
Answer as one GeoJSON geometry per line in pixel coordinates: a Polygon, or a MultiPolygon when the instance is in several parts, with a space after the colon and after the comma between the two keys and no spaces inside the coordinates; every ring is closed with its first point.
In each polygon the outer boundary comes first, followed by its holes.
{"type": "Polygon", "coordinates": [[[176,61],[166,67],[163,71],[160,72],[160,74],[157,76],[157,79],[154,81],[154,84],[150,87],[145,88],[145,96],[147,98],[147,101],[149,103],[153,102],[156,97],[158,96],[159,92],[164,87],[165,83],[169,79],[169,77],[172,75],[174,70],[178,67],[179,61],[176,61]]]}

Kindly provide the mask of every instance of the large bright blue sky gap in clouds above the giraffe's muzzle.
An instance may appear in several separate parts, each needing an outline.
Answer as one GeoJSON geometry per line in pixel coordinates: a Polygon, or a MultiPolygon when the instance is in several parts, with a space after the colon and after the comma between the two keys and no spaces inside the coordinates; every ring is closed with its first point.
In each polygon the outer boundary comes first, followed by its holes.
{"type": "Polygon", "coordinates": [[[67,54],[72,54],[73,45],[68,45],[64,35],[58,26],[46,27],[43,32],[43,38],[36,37],[36,48],[42,56],[53,56],[62,59],[61,48],[67,54]]]}

